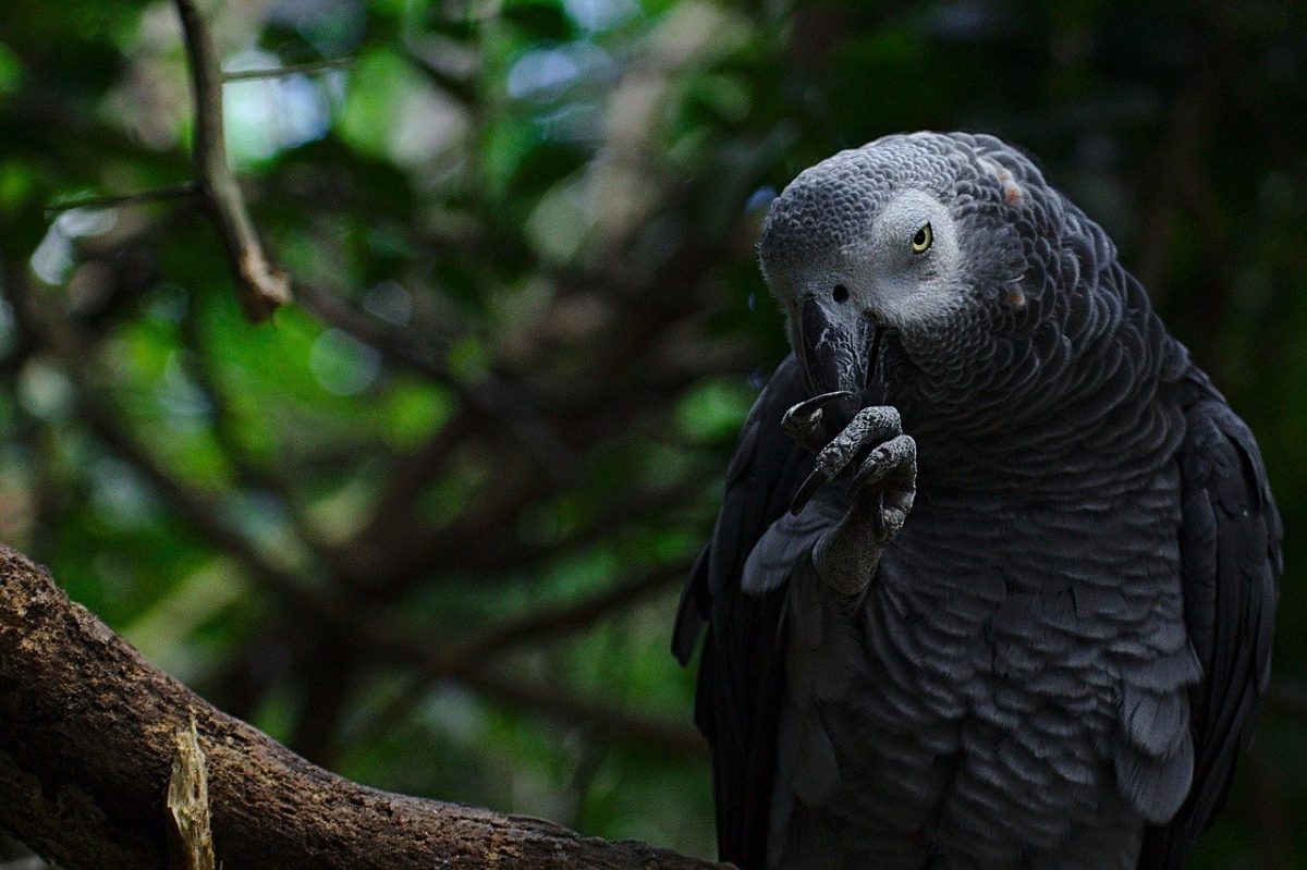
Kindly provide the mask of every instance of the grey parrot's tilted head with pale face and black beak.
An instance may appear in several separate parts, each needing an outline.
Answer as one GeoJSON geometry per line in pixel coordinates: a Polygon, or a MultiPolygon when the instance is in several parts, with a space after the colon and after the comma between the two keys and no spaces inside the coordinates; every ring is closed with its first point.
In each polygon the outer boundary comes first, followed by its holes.
{"type": "Polygon", "coordinates": [[[1029,320],[1031,174],[992,137],[912,133],[795,178],[758,252],[808,388],[851,393],[847,417],[907,380],[958,383],[996,329],[1029,320]]]}

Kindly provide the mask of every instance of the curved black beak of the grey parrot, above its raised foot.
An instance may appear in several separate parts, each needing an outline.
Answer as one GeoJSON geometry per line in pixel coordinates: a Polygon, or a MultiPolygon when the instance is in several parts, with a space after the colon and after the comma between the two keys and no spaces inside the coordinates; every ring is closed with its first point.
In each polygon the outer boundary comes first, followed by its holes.
{"type": "MultiPolygon", "coordinates": [[[[852,314],[852,312],[851,312],[852,314]]],[[[831,317],[817,297],[805,295],[799,310],[799,361],[813,396],[846,391],[850,398],[839,402],[852,417],[863,405],[880,329],[868,316],[831,317]]]]}

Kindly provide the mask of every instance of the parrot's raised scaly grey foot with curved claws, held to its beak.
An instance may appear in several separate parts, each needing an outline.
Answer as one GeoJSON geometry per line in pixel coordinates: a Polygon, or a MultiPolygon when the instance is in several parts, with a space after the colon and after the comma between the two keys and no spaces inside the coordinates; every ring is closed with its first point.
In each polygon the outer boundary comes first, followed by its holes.
{"type": "Polygon", "coordinates": [[[877,444],[853,474],[850,507],[834,529],[817,543],[813,563],[827,587],[843,596],[867,588],[881,551],[903,528],[916,496],[916,442],[903,434],[897,409],[864,408],[821,449],[821,406],[843,393],[816,396],[791,408],[782,425],[795,440],[817,453],[813,473],[799,487],[789,509],[800,513],[823,485],[839,477],[861,452],[877,444]]]}

